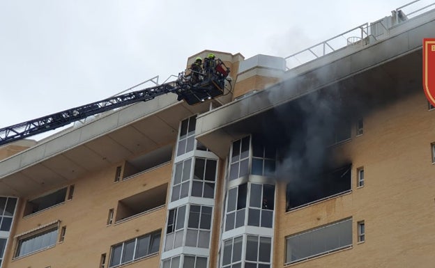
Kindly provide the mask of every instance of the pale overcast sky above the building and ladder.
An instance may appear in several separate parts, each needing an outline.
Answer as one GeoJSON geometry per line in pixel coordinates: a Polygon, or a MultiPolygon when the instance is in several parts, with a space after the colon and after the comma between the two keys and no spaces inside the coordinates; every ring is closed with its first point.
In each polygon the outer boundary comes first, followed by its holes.
{"type": "Polygon", "coordinates": [[[289,56],[409,2],[0,0],[0,127],[161,83],[204,49],[289,56]]]}

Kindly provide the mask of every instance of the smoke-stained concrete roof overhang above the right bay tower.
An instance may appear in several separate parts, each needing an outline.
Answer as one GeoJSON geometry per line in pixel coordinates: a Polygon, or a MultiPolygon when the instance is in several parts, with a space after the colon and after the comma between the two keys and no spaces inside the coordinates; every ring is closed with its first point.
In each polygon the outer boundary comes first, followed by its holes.
{"type": "Polygon", "coordinates": [[[434,29],[432,10],[392,27],[388,38],[364,47],[346,47],[289,70],[279,84],[201,114],[196,137],[224,158],[231,141],[245,134],[279,131],[282,121],[275,119],[274,111],[310,93],[338,89],[348,97],[386,102],[410,91],[420,92],[422,38],[432,36],[434,29]]]}

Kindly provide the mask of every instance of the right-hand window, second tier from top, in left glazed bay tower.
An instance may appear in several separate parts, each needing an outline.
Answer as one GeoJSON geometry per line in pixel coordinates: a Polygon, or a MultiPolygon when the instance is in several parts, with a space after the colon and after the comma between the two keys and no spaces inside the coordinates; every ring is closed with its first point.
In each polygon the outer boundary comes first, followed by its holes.
{"type": "Polygon", "coordinates": [[[214,198],[217,161],[195,158],[192,196],[214,198]]]}

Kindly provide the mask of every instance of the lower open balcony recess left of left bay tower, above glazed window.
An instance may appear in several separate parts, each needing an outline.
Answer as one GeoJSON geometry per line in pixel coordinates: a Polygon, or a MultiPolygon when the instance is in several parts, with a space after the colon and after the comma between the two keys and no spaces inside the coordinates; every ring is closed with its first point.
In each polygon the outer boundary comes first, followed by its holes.
{"type": "MultiPolygon", "coordinates": [[[[167,184],[162,184],[153,189],[143,191],[142,193],[129,196],[123,200],[118,201],[116,208],[115,223],[128,219],[132,216],[137,216],[146,212],[161,207],[166,204],[167,184]]],[[[110,218],[110,212],[109,212],[110,218]]],[[[107,223],[109,224],[109,219],[107,223]]]]}

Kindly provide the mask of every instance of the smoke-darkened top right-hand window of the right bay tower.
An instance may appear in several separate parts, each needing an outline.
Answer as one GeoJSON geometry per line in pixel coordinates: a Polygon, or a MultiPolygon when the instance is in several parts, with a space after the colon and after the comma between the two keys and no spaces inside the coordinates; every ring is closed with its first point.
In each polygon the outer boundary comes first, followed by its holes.
{"type": "Polygon", "coordinates": [[[252,139],[252,171],[253,175],[271,176],[275,174],[275,148],[263,145],[261,140],[252,139]]]}

